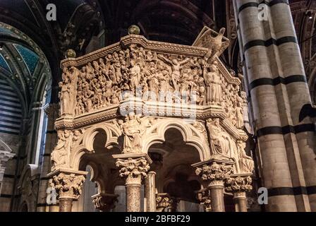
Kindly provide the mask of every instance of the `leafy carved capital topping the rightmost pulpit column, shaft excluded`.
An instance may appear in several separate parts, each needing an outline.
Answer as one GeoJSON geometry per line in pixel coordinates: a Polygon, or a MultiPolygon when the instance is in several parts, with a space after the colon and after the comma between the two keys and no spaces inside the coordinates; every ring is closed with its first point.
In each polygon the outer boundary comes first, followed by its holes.
{"type": "Polygon", "coordinates": [[[253,190],[251,183],[253,179],[250,176],[247,177],[229,177],[226,180],[225,189],[229,192],[245,192],[253,190]]]}

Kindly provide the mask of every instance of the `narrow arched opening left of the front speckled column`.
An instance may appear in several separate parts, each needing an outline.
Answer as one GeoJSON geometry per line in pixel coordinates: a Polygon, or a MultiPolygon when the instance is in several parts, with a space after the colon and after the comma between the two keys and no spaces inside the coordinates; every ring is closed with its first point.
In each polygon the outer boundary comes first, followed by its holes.
{"type": "Polygon", "coordinates": [[[75,208],[73,207],[73,211],[98,212],[93,203],[93,196],[116,194],[116,187],[124,184],[112,157],[121,153],[121,150],[117,146],[107,145],[107,133],[102,129],[96,129],[91,136],[92,151],[80,157],[79,170],[88,173],[83,186],[83,194],[78,199],[75,208]]]}

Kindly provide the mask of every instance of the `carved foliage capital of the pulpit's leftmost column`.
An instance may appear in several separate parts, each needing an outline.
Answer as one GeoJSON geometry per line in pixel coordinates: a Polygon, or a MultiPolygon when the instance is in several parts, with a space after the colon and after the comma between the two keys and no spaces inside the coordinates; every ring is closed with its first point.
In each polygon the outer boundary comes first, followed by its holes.
{"type": "Polygon", "coordinates": [[[55,175],[49,180],[52,188],[56,189],[59,198],[78,199],[81,192],[85,177],[83,175],[64,174],[55,175]]]}

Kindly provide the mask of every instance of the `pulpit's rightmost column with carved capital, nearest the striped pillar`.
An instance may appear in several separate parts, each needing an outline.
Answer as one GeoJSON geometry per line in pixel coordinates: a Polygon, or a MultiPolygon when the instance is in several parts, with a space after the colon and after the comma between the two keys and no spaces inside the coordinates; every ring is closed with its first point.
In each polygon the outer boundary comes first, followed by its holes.
{"type": "Polygon", "coordinates": [[[225,189],[233,193],[236,212],[247,212],[247,197],[245,193],[251,191],[253,186],[252,174],[231,174],[226,180],[225,189]]]}

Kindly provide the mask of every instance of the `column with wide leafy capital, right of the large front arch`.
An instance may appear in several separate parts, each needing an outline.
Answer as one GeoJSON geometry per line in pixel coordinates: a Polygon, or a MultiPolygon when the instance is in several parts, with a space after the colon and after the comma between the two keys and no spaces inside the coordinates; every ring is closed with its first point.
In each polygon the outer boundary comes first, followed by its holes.
{"type": "Polygon", "coordinates": [[[233,170],[233,162],[212,158],[192,165],[196,174],[207,184],[211,196],[213,212],[224,212],[224,182],[229,179],[233,170]]]}

